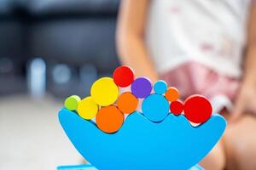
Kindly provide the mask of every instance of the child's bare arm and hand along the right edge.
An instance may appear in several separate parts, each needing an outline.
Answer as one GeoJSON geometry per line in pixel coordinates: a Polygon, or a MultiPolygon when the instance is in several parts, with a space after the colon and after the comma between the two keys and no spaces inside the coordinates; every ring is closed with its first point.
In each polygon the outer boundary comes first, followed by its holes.
{"type": "Polygon", "coordinates": [[[251,8],[248,20],[247,54],[244,63],[244,77],[237,95],[233,119],[244,112],[256,114],[256,5],[251,8]]]}

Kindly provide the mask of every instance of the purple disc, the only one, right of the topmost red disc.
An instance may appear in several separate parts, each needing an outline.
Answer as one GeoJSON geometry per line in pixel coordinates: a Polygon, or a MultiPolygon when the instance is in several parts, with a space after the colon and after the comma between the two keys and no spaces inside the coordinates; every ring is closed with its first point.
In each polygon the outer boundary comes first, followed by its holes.
{"type": "Polygon", "coordinates": [[[138,77],[131,84],[131,93],[137,98],[146,98],[152,90],[152,84],[146,77],[138,77]]]}

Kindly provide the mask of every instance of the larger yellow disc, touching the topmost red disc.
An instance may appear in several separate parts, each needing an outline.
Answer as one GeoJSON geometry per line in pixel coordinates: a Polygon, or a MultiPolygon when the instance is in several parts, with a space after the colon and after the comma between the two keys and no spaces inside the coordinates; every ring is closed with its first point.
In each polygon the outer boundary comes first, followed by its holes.
{"type": "Polygon", "coordinates": [[[90,95],[98,105],[112,105],[118,98],[119,88],[113,78],[102,77],[92,84],[90,95]]]}

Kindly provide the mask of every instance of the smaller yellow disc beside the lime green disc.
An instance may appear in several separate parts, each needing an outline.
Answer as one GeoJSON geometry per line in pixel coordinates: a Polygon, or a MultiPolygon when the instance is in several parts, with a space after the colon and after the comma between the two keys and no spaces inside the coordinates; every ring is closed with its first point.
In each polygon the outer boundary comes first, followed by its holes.
{"type": "Polygon", "coordinates": [[[79,102],[77,111],[79,116],[90,120],[96,116],[98,109],[99,107],[96,102],[91,97],[87,97],[79,102]]]}

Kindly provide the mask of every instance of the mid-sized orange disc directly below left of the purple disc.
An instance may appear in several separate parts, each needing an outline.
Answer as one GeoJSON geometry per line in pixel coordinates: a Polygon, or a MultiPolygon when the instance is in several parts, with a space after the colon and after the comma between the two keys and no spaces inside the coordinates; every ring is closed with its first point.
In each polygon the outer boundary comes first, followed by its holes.
{"type": "Polygon", "coordinates": [[[131,114],[137,109],[138,99],[131,94],[131,92],[125,92],[119,96],[117,105],[119,110],[126,114],[131,114]]]}

